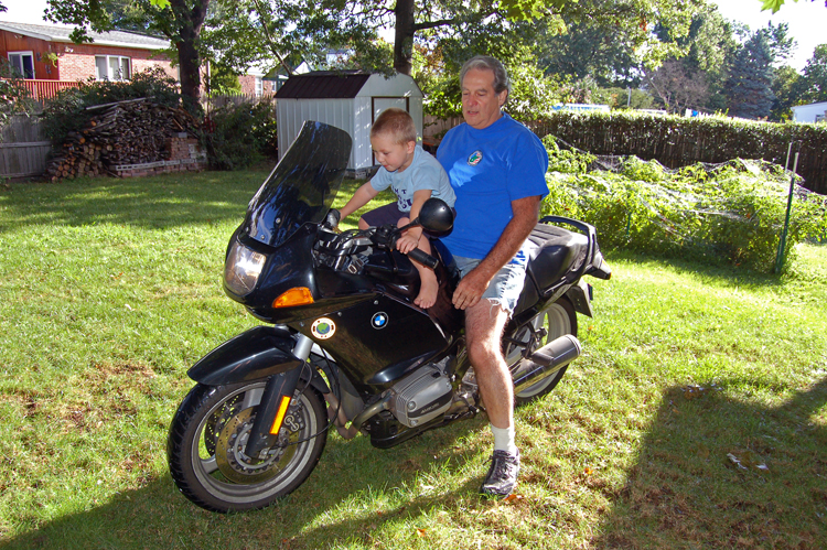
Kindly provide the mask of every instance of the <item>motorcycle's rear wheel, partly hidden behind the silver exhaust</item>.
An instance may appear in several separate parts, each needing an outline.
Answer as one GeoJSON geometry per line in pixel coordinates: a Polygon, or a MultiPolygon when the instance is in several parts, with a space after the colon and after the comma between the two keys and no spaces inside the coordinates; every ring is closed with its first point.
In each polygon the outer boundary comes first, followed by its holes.
{"type": "MultiPolygon", "coordinates": [[[[530,321],[530,328],[524,326],[517,330],[513,336],[513,339],[523,342],[523,345],[509,342],[505,346],[505,360],[508,364],[512,374],[518,368],[519,359],[523,358],[523,351],[527,346],[530,347],[529,352],[534,352],[545,346],[548,342],[555,341],[566,334],[577,336],[577,313],[574,313],[574,306],[571,305],[571,302],[569,302],[567,298],[561,298],[552,303],[547,310],[534,317],[530,321]],[[531,328],[538,331],[544,326],[546,327],[548,335],[545,338],[535,338],[535,341],[531,342],[531,328]]],[[[515,393],[515,405],[520,406],[531,402],[555,389],[567,369],[568,366],[562,367],[554,375],[544,378],[534,386],[529,386],[519,393],[515,393]]]]}

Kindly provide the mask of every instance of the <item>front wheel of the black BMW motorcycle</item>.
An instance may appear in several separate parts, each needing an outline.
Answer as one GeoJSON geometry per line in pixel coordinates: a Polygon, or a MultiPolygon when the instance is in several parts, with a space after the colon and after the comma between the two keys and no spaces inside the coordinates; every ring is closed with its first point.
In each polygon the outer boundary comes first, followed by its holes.
{"type": "Polygon", "coordinates": [[[326,417],[313,388],[296,392],[266,459],[244,453],[265,386],[265,380],[198,384],[175,412],[167,442],[170,473],[181,493],[202,508],[262,508],[301,485],[319,462],[326,417]]]}

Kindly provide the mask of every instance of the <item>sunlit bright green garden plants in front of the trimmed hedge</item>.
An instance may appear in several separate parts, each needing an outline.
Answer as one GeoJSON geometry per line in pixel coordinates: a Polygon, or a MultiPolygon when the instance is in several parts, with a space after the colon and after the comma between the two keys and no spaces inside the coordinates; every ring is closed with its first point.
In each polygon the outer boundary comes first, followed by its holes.
{"type": "MultiPolygon", "coordinates": [[[[544,142],[554,144],[548,138],[544,142]]],[[[739,160],[670,172],[657,161],[627,157],[616,173],[577,173],[570,168],[591,165],[592,155],[555,147],[548,151],[551,193],[544,214],[594,225],[602,247],[773,270],[788,190],[788,176],[780,166],[739,160]]],[[[787,257],[802,240],[825,236],[825,206],[821,195],[796,195],[787,257]]]]}

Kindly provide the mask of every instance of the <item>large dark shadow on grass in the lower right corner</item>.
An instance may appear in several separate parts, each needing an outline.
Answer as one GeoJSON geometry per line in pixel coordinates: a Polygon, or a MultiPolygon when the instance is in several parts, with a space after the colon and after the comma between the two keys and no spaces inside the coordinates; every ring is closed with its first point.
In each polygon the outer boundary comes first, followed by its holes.
{"type": "Polygon", "coordinates": [[[775,408],[738,382],[666,392],[595,548],[825,548],[827,379],[775,408]]]}

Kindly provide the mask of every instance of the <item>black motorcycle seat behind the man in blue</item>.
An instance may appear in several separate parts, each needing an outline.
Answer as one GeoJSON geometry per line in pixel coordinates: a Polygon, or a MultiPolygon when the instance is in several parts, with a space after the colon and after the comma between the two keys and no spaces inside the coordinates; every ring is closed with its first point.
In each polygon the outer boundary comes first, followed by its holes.
{"type": "Polygon", "coordinates": [[[547,224],[537,224],[527,240],[534,246],[529,247],[526,273],[540,295],[570,282],[567,277],[582,267],[589,248],[586,235],[547,224]]]}

